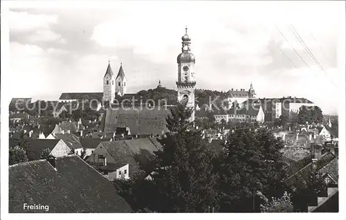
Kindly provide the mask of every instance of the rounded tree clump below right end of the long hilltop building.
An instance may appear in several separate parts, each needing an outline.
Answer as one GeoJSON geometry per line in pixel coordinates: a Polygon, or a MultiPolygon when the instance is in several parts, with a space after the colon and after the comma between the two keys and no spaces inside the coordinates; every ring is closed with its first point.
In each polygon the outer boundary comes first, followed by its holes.
{"type": "Polygon", "coordinates": [[[323,114],[320,107],[313,106],[313,107],[307,107],[303,105],[299,109],[298,113],[298,122],[300,125],[304,125],[306,122],[309,124],[312,123],[320,123],[323,121],[323,114]]]}

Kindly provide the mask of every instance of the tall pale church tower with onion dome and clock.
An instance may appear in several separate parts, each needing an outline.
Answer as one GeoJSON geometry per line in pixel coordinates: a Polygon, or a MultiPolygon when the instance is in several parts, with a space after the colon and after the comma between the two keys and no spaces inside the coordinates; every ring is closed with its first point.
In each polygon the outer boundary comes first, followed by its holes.
{"type": "Polygon", "coordinates": [[[191,38],[188,36],[188,28],[185,28],[181,53],[178,55],[178,101],[186,103],[186,107],[193,109],[190,121],[194,121],[194,87],[196,86],[194,76],[194,55],[191,53],[191,38]]]}

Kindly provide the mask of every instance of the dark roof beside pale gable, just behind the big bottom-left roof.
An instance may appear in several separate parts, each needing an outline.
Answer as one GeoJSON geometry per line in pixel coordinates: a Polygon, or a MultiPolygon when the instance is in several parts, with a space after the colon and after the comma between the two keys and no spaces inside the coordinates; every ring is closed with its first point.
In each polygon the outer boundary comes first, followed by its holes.
{"type": "Polygon", "coordinates": [[[42,150],[46,148],[53,150],[59,141],[60,140],[56,139],[29,139],[28,151],[26,152],[26,154],[28,155],[28,160],[39,160],[42,150]]]}

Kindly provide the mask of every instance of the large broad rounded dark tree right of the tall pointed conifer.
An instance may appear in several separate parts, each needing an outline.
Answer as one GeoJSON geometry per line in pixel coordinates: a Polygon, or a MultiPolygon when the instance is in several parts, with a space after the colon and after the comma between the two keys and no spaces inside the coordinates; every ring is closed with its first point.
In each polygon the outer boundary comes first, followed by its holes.
{"type": "Polygon", "coordinates": [[[243,123],[228,136],[224,153],[217,158],[221,212],[260,211],[255,192],[277,196],[284,192],[282,140],[267,129],[243,123]]]}

